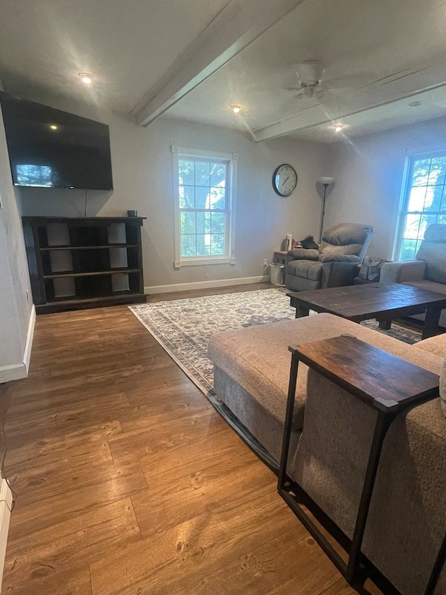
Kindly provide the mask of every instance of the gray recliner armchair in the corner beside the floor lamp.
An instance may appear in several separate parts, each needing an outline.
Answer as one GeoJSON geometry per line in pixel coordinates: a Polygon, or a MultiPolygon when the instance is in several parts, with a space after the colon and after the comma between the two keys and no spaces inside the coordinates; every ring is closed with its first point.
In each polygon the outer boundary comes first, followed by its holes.
{"type": "Polygon", "coordinates": [[[353,285],[373,227],[338,223],[327,227],[318,250],[294,248],[285,258],[285,285],[293,292],[353,285]]]}

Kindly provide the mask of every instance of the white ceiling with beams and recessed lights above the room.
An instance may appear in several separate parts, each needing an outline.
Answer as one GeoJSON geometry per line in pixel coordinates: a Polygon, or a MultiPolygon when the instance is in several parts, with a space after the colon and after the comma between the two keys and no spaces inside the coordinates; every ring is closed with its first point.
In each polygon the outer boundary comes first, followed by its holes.
{"type": "Polygon", "coordinates": [[[165,115],[332,142],[334,123],[358,135],[446,115],[445,22],[446,0],[0,0],[0,79],[140,126],[165,115]],[[294,65],[312,59],[329,92],[298,98],[294,65]]]}

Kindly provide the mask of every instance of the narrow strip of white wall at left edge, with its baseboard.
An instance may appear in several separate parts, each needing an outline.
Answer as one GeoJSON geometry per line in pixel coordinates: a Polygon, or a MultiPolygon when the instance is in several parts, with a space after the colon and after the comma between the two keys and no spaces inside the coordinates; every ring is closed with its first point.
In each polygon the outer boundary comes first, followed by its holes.
{"type": "Polygon", "coordinates": [[[11,181],[1,110],[0,201],[0,382],[6,382],[26,375],[26,338],[31,333],[33,312],[22,222],[11,181]]]}

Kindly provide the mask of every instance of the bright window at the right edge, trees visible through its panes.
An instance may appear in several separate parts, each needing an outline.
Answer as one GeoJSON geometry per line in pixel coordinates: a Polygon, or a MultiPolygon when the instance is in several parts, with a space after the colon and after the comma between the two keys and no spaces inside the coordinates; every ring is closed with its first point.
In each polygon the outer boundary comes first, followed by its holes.
{"type": "Polygon", "coordinates": [[[428,225],[446,223],[445,181],[446,154],[411,158],[401,213],[400,260],[415,258],[428,225]]]}

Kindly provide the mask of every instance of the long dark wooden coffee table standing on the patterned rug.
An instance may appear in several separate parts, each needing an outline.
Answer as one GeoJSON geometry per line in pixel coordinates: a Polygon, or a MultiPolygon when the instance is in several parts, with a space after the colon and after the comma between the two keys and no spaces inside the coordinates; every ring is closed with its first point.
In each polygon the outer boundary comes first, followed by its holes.
{"type": "Polygon", "coordinates": [[[315,289],[312,292],[289,292],[295,317],[308,316],[309,310],[330,312],[343,318],[361,322],[376,318],[380,329],[390,329],[394,318],[426,312],[422,338],[438,332],[441,310],[446,308],[446,295],[400,283],[369,283],[315,289]]]}

